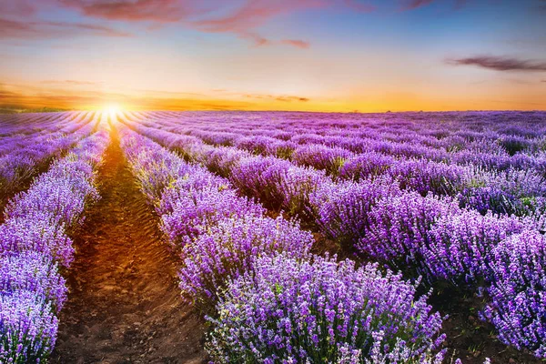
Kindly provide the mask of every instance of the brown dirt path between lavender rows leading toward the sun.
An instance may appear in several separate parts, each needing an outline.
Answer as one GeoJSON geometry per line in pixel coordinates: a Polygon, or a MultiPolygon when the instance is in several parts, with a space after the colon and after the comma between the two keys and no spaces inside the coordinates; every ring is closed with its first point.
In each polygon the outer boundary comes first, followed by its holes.
{"type": "Polygon", "coordinates": [[[179,298],[176,261],[114,136],[67,274],[54,363],[201,363],[203,322],[179,298]]]}

